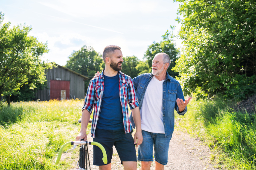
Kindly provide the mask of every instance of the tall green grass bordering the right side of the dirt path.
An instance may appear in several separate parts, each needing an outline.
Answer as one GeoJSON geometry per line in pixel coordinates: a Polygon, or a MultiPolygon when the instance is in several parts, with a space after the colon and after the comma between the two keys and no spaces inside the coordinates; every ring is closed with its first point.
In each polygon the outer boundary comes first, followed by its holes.
{"type": "Polygon", "coordinates": [[[230,109],[220,99],[191,101],[179,125],[213,150],[217,167],[256,169],[256,115],[230,109]]]}

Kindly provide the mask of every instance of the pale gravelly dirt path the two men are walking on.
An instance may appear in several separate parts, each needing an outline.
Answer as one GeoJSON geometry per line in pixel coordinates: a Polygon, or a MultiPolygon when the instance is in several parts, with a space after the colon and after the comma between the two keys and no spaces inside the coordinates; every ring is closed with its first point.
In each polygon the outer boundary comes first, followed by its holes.
{"type": "MultiPolygon", "coordinates": [[[[92,138],[88,137],[88,141],[92,141],[92,138]]],[[[138,153],[138,148],[136,150],[138,153]]],[[[91,170],[98,170],[99,167],[93,165],[93,147],[91,146],[89,153],[91,170]]],[[[209,148],[201,141],[190,137],[187,133],[177,131],[176,127],[169,144],[168,164],[165,166],[165,170],[217,170],[210,164],[210,154],[209,148]]],[[[77,156],[75,160],[78,159],[77,156]]],[[[138,161],[137,170],[140,170],[140,163],[138,161]]],[[[76,162],[73,167],[70,170],[76,170],[76,162]]],[[[115,147],[113,147],[112,170],[123,170],[115,147]]],[[[154,170],[154,163],[151,165],[151,170],[154,170]]]]}

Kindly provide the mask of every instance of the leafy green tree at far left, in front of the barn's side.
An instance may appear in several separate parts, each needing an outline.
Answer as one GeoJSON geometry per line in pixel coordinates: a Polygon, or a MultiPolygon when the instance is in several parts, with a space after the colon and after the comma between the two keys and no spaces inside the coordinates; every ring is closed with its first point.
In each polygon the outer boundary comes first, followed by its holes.
{"type": "MultiPolygon", "coordinates": [[[[37,83],[46,81],[41,55],[47,50],[47,44],[38,42],[35,37],[28,36],[31,27],[18,25],[9,28],[10,23],[3,24],[0,12],[0,96],[18,94],[18,90],[28,84],[28,77],[36,77],[29,83],[29,88],[36,88],[37,83]]],[[[47,67],[50,67],[47,64],[47,67]]]]}

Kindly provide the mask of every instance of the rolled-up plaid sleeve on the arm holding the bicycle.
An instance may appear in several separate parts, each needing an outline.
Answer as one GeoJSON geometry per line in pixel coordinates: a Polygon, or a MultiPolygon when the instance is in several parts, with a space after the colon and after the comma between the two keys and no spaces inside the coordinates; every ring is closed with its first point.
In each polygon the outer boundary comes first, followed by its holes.
{"type": "Polygon", "coordinates": [[[93,111],[93,107],[94,107],[94,102],[95,102],[95,85],[93,83],[93,81],[90,81],[90,84],[88,86],[87,89],[87,93],[84,99],[84,106],[82,108],[82,111],[84,109],[86,109],[87,111],[89,111],[90,113],[92,113],[93,111]]]}

